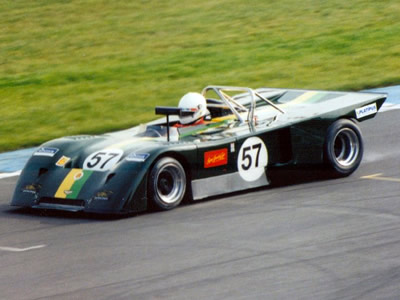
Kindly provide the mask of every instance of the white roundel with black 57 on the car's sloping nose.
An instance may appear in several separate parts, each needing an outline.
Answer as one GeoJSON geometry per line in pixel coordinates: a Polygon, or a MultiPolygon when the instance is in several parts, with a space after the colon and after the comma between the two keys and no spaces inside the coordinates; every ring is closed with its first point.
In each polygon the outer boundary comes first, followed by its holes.
{"type": "Polygon", "coordinates": [[[83,162],[83,169],[101,172],[108,171],[120,160],[123,154],[124,151],[121,149],[96,151],[86,157],[83,162]]]}

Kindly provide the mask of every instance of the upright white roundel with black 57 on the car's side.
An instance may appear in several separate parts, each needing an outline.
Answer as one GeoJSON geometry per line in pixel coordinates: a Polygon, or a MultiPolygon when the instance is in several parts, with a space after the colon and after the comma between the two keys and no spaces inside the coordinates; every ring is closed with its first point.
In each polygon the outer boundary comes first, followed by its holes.
{"type": "Polygon", "coordinates": [[[251,137],[244,141],[238,154],[237,167],[246,181],[259,179],[268,164],[268,151],[262,139],[251,137]]]}

